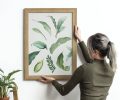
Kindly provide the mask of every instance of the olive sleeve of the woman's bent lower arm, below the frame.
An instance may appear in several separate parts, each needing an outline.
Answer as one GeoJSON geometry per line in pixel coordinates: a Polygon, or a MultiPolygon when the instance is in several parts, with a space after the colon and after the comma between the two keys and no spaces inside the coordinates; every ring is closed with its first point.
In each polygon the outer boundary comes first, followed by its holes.
{"type": "Polygon", "coordinates": [[[82,66],[78,67],[71,79],[64,85],[58,83],[56,80],[52,81],[52,85],[57,89],[57,91],[62,95],[68,94],[80,81],[82,80],[82,76],[84,73],[84,69],[82,66]]]}

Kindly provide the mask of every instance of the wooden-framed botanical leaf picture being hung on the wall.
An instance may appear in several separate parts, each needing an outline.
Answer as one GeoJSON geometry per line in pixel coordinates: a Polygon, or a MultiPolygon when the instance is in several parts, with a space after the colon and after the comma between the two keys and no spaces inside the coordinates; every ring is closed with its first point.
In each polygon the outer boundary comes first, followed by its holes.
{"type": "Polygon", "coordinates": [[[23,10],[24,80],[68,80],[77,68],[77,8],[23,10]]]}

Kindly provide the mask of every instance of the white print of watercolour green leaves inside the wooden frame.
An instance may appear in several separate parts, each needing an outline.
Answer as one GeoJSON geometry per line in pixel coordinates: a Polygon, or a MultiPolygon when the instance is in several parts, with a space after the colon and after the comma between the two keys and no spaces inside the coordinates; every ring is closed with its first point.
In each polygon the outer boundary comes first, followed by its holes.
{"type": "Polygon", "coordinates": [[[29,13],[29,75],[72,74],[72,14],[29,13]]]}

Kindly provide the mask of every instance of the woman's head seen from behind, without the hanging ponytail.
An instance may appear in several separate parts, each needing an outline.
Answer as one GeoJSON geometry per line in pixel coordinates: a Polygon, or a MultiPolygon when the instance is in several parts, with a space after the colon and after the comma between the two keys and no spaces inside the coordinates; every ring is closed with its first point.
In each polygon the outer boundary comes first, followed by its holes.
{"type": "Polygon", "coordinates": [[[93,53],[99,53],[101,58],[105,57],[108,52],[108,43],[108,37],[102,33],[96,33],[90,36],[87,45],[91,56],[93,53]]]}

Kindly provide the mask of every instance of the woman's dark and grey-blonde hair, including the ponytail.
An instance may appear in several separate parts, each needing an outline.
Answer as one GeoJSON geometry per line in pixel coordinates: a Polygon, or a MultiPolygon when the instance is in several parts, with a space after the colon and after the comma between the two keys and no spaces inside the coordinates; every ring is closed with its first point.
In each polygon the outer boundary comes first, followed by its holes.
{"type": "Polygon", "coordinates": [[[88,38],[87,45],[89,52],[98,50],[101,57],[107,56],[110,60],[110,65],[113,71],[116,70],[116,52],[114,49],[114,44],[109,40],[109,38],[102,33],[96,33],[88,38]]]}

